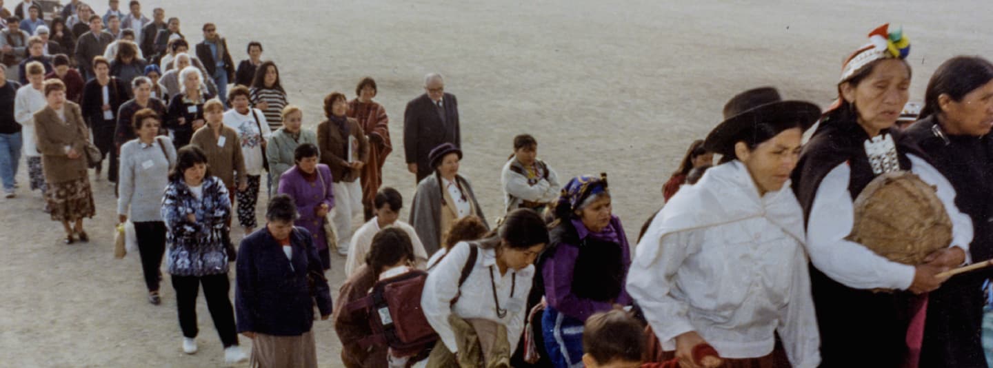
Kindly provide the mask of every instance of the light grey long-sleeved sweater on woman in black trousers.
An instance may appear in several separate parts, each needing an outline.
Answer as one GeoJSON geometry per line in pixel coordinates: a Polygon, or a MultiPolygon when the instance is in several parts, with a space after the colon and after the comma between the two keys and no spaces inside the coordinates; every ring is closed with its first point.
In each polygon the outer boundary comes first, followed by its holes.
{"type": "Polygon", "coordinates": [[[156,137],[151,145],[138,139],[128,141],[121,146],[120,159],[117,213],[128,214],[130,208],[133,222],[162,221],[162,193],[176,166],[173,141],[169,137],[156,137]]]}

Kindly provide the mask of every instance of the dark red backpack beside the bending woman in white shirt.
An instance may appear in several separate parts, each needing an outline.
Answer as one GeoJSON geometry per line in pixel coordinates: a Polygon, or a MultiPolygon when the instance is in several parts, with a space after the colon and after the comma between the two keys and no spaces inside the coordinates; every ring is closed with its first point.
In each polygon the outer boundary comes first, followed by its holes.
{"type": "MultiPolygon", "coordinates": [[[[460,288],[476,266],[478,250],[475,246],[470,249],[469,260],[459,277],[460,288]]],[[[427,278],[427,272],[412,270],[379,280],[367,296],[346,305],[346,310],[356,320],[369,321],[372,333],[358,340],[359,346],[386,345],[398,356],[414,355],[434,346],[438,334],[421,309],[421,294],[427,278]]],[[[456,300],[452,301],[453,305],[456,300]]]]}

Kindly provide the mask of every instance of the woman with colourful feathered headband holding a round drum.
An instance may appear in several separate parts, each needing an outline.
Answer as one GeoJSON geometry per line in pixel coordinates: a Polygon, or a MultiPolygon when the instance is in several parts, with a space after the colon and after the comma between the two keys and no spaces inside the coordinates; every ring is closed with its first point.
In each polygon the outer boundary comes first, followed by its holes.
{"type": "Polygon", "coordinates": [[[969,219],[955,207],[955,190],[926,155],[892,129],[909,99],[907,36],[883,25],[869,41],[845,61],[838,100],[822,116],[792,174],[813,265],[822,367],[852,366],[853,357],[864,367],[917,366],[920,340],[917,346],[908,343],[909,334],[915,335],[913,314],[920,310],[915,295],[937,289],[946,279],[938,273],[965,263],[972,238],[969,219]],[[934,185],[953,224],[951,246],[920,266],[890,261],[845,239],[854,224],[854,199],[877,176],[897,171],[911,171],[934,185]]]}

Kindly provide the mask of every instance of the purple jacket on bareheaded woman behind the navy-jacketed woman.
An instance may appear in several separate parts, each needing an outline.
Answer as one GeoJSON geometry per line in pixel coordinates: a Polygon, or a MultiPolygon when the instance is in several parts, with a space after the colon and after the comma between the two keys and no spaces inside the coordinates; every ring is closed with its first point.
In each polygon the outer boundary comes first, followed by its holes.
{"type": "Polygon", "coordinates": [[[324,250],[328,248],[328,239],[324,235],[325,217],[318,217],[314,213],[314,208],[321,203],[328,203],[328,208],[334,208],[335,194],[331,189],[331,169],[327,165],[318,164],[317,170],[321,176],[314,183],[310,183],[304,179],[299,167],[290,168],[279,177],[278,192],[293,197],[297,211],[300,212],[300,218],[297,218],[295,224],[307,229],[314,238],[317,249],[324,250]],[[321,182],[324,182],[324,185],[321,185],[321,182]]]}

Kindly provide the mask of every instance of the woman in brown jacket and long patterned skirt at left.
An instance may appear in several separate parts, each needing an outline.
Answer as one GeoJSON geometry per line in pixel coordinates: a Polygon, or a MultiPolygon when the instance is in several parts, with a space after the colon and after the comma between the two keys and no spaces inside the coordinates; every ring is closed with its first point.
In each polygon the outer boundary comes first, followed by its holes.
{"type": "Polygon", "coordinates": [[[46,80],[44,90],[48,106],[35,113],[35,135],[49,185],[46,200],[52,219],[62,221],[66,228],[66,244],[75,242],[73,236],[86,242],[89,237],[82,228],[82,218],[96,213],[83,151],[89,140],[86,124],[79,105],[66,100],[62,80],[46,80]]]}

